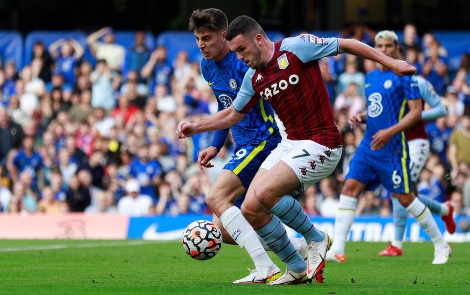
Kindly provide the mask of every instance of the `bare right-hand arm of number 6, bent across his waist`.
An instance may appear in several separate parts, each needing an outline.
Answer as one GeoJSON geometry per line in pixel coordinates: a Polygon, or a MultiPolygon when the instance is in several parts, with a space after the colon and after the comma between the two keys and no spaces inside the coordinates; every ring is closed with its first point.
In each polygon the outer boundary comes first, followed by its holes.
{"type": "Polygon", "coordinates": [[[421,104],[421,99],[409,100],[408,107],[410,110],[398,123],[387,129],[379,130],[372,136],[373,140],[371,142],[371,150],[380,150],[387,144],[387,142],[389,142],[392,136],[407,130],[421,120],[421,104]]]}

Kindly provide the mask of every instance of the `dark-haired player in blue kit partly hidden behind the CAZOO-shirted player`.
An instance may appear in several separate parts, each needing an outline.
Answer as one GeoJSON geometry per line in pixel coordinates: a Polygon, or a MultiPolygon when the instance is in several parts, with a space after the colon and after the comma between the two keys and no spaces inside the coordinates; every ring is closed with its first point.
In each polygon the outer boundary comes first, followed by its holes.
{"type": "MultiPolygon", "coordinates": [[[[189,20],[198,48],[203,55],[202,76],[208,82],[219,104],[219,111],[232,105],[242,84],[248,66],[230,51],[225,40],[228,21],[225,14],[215,8],[196,10],[189,20]]],[[[229,128],[217,131],[213,142],[198,156],[198,165],[210,168],[210,161],[222,148],[229,128]]],[[[261,163],[281,141],[274,121],[271,105],[261,99],[247,116],[232,127],[235,154],[232,156],[206,197],[207,206],[214,213],[214,223],[223,231],[223,241],[244,248],[255,265],[247,277],[233,283],[266,283],[281,275],[271,261],[256,232],[240,211],[245,193],[261,163]]],[[[290,238],[304,257],[307,244],[303,239],[290,238]]]]}

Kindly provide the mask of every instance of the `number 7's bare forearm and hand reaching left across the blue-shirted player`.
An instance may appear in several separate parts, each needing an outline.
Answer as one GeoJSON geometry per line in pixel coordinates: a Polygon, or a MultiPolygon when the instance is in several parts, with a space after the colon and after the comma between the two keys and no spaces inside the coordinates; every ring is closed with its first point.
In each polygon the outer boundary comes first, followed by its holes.
{"type": "Polygon", "coordinates": [[[233,107],[227,107],[209,118],[200,120],[196,123],[188,121],[179,122],[178,127],[176,128],[176,136],[178,136],[178,138],[185,138],[197,133],[229,128],[242,121],[244,117],[244,114],[239,113],[233,107]]]}

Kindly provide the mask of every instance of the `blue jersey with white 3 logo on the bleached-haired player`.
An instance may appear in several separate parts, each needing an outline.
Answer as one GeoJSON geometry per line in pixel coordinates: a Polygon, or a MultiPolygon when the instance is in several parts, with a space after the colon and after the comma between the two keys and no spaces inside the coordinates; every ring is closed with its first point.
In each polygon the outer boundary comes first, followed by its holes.
{"type": "MultiPolygon", "coordinates": [[[[366,75],[367,128],[359,148],[378,157],[390,157],[390,153],[407,153],[403,132],[395,134],[380,150],[371,151],[372,136],[387,129],[408,112],[407,101],[420,99],[420,88],[415,76],[398,77],[391,70],[374,70],[366,75]]],[[[406,156],[405,156],[406,158],[406,156]]]]}

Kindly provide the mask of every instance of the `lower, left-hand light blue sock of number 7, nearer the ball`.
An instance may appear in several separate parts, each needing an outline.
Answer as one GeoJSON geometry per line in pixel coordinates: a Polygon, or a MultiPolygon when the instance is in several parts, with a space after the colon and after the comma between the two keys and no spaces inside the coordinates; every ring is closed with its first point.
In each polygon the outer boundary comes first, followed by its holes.
{"type": "Polygon", "coordinates": [[[289,269],[302,272],[307,268],[307,264],[289,240],[286,229],[279,218],[273,215],[271,221],[256,233],[289,269]]]}

